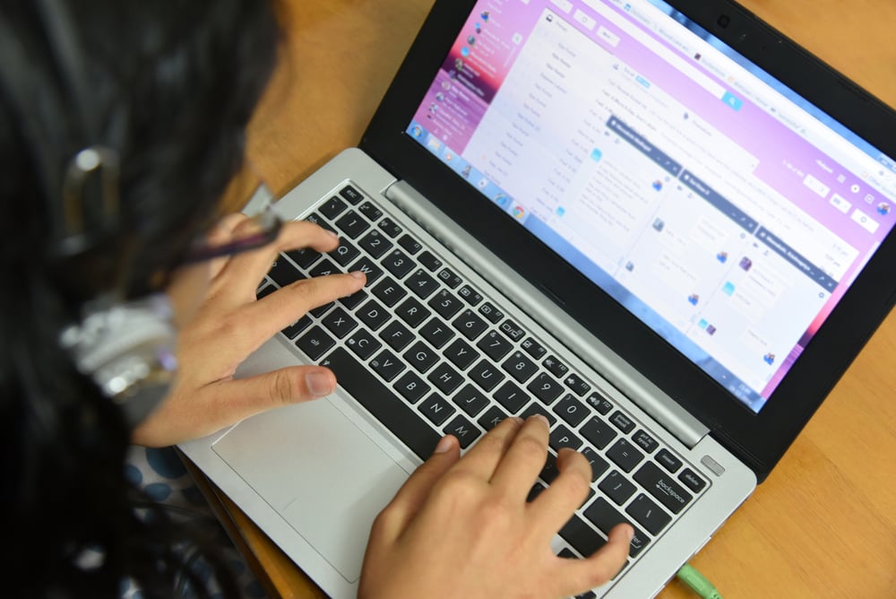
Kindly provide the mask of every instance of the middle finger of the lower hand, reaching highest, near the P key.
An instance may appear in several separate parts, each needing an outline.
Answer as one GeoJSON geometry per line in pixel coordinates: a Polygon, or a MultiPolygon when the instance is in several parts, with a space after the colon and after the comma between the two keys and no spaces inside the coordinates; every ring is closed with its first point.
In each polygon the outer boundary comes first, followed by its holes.
{"type": "Polygon", "coordinates": [[[538,473],[545,467],[549,435],[544,416],[532,416],[523,422],[504,459],[495,469],[492,485],[513,496],[519,496],[520,499],[525,498],[538,473]]]}

